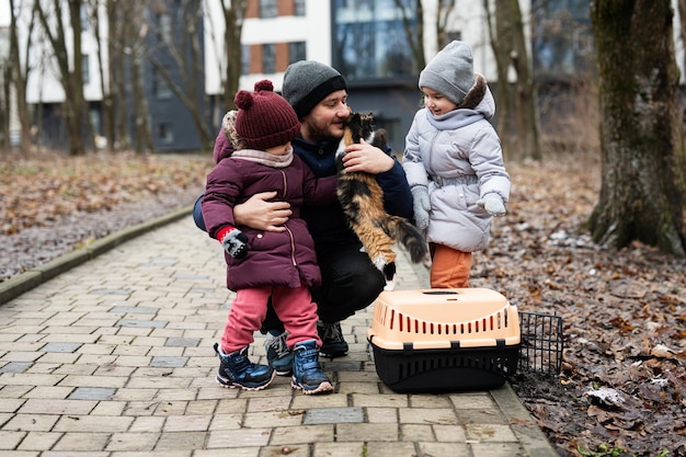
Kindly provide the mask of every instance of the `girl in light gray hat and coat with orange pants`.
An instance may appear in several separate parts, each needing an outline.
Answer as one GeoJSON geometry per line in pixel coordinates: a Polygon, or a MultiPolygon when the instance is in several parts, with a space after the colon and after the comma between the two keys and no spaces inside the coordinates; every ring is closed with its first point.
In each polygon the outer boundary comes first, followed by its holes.
{"type": "Polygon", "coordinates": [[[495,102],[475,73],[471,47],[451,42],[420,73],[424,107],[412,121],[402,165],[414,221],[426,231],[431,286],[469,287],[471,253],[489,241],[493,216],[505,215],[510,175],[489,122],[495,102]]]}

